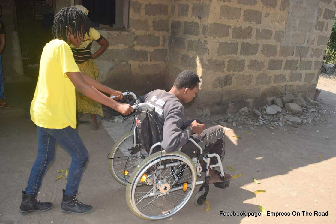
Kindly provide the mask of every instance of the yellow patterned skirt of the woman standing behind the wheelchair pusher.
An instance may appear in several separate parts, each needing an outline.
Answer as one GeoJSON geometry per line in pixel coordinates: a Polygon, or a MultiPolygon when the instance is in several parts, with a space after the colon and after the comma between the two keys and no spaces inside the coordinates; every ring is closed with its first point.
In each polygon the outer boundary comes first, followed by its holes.
{"type": "MultiPolygon", "coordinates": [[[[77,64],[78,68],[82,73],[85,75],[90,76],[92,79],[98,79],[98,68],[96,62],[93,60],[89,60],[83,62],[81,64],[77,64]]],[[[103,111],[101,109],[101,103],[90,99],[89,97],[85,96],[84,94],[78,92],[76,90],[76,109],[77,112],[82,112],[84,114],[96,114],[103,117],[103,111]]]]}

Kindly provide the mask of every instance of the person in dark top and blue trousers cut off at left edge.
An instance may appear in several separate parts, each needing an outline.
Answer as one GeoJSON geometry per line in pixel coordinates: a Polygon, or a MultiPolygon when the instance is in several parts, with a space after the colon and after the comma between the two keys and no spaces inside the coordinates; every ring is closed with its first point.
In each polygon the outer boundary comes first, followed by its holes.
{"type": "MultiPolygon", "coordinates": [[[[2,6],[0,5],[0,18],[2,17],[2,6]]],[[[0,107],[10,108],[11,106],[6,103],[4,97],[4,80],[2,73],[2,52],[6,44],[6,29],[3,22],[0,20],[0,107]]]]}

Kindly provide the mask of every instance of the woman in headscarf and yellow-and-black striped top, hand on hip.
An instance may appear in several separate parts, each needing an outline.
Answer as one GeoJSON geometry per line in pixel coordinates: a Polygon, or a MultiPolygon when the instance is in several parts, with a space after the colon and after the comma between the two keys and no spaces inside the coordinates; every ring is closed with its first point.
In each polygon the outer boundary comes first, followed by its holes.
{"type": "MultiPolygon", "coordinates": [[[[75,7],[86,13],[86,15],[89,12],[82,5],[76,5],[75,7]]],[[[93,59],[99,57],[109,47],[109,42],[101,36],[97,30],[91,27],[89,35],[85,35],[84,41],[79,47],[75,47],[74,45],[70,45],[70,47],[81,72],[90,76],[92,79],[97,80],[99,73],[97,64],[93,59]],[[91,54],[91,45],[93,41],[98,42],[101,46],[94,54],[91,54]]],[[[96,115],[101,117],[104,116],[101,109],[101,103],[98,103],[76,91],[76,109],[77,112],[84,114],[90,113],[92,116],[92,130],[95,131],[99,129],[96,115]]]]}

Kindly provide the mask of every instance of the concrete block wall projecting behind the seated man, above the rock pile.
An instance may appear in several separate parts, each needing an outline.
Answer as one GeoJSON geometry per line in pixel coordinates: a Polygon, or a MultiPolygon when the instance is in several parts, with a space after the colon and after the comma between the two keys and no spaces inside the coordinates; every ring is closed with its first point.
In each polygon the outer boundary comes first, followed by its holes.
{"type": "Polygon", "coordinates": [[[334,16],[334,0],[173,0],[166,89],[197,71],[201,91],[186,110],[197,116],[312,96],[334,16]]]}

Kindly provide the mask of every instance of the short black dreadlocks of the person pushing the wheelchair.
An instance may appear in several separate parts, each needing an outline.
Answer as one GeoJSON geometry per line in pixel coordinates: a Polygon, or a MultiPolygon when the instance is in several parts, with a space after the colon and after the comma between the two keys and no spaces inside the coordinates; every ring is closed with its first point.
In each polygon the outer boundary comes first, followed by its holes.
{"type": "Polygon", "coordinates": [[[52,34],[55,39],[67,41],[68,32],[75,38],[78,35],[89,35],[90,19],[87,15],[76,7],[62,8],[54,17],[52,34]]]}

